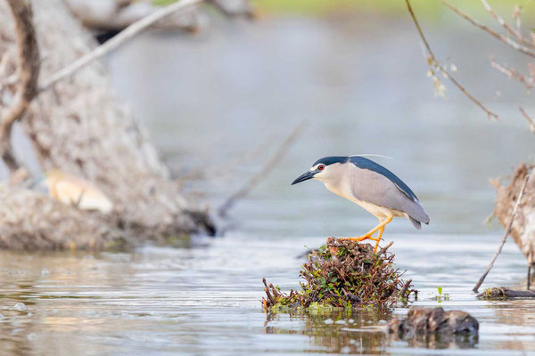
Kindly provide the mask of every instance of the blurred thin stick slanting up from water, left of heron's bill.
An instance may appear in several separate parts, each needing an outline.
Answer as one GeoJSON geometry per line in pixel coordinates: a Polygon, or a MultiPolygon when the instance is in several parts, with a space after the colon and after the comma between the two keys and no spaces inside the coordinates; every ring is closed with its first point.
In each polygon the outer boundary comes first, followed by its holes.
{"type": "Polygon", "coordinates": [[[219,216],[225,216],[228,209],[230,209],[232,206],[235,205],[235,202],[245,197],[249,192],[257,186],[257,184],[264,178],[266,175],[269,174],[269,172],[273,169],[274,166],[276,166],[276,163],[279,162],[284,155],[286,154],[286,151],[290,149],[293,142],[295,142],[300,134],[303,132],[304,128],[306,127],[306,124],[304,122],[301,122],[299,125],[297,125],[293,130],[292,133],[286,137],[284,142],[281,143],[278,150],[271,156],[271,158],[268,159],[268,162],[262,167],[262,169],[259,170],[257,174],[254,174],[249,181],[243,185],[242,188],[239,190],[236,190],[234,194],[232,194],[230,197],[226,198],[225,202],[219,206],[218,208],[218,214],[219,216]]]}

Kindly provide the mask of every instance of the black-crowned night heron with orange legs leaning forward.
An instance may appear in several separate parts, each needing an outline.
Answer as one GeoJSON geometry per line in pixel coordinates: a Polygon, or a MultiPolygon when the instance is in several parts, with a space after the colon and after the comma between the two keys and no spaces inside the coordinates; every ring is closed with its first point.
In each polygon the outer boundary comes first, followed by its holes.
{"type": "Polygon", "coordinates": [[[379,219],[379,224],[366,234],[346,238],[356,241],[374,240],[374,252],[383,236],[384,226],[391,222],[392,217],[405,216],[416,229],[421,229],[422,223],[429,223],[429,216],[407,184],[370,159],[361,156],[321,158],[312,165],[309,172],[293,181],[292,185],[309,179],[323,182],[334,194],[364,207],[379,219]],[[379,231],[377,238],[372,238],[376,231],[379,231]]]}

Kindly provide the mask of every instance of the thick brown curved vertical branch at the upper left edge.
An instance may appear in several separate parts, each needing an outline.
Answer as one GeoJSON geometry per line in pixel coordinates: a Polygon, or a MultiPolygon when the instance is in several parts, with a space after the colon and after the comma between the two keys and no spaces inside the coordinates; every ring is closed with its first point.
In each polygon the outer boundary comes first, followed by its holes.
{"type": "Polygon", "coordinates": [[[37,94],[37,78],[39,77],[39,49],[36,30],[33,27],[32,12],[26,0],[7,0],[12,12],[15,36],[18,46],[18,85],[11,106],[4,109],[0,117],[0,156],[5,166],[13,174],[21,164],[15,157],[12,148],[12,125],[19,120],[30,101],[37,94]]]}

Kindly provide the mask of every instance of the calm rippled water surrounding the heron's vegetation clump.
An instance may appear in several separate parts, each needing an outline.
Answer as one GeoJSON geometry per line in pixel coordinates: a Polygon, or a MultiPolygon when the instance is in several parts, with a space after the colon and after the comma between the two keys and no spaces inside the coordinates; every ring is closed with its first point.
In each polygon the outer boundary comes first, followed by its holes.
{"type": "MultiPolygon", "coordinates": [[[[535,354],[535,301],[487,302],[471,293],[501,239],[496,224],[482,224],[495,197],[487,180],[532,158],[532,135],[513,104],[523,90],[474,67],[496,51],[490,40],[473,48],[459,32],[430,31],[435,52],[456,63],[457,77],[499,111],[500,122],[488,122],[454,88],[447,100],[432,97],[406,22],[216,23],[194,37],[148,33],[114,53],[119,94],[173,171],[202,172],[185,189],[213,207],[260,169],[294,125],[306,119],[308,128],[218,222],[222,237],[131,253],[0,252],[0,353],[535,354]],[[393,340],[378,327],[406,307],[351,316],[262,312],[263,277],[296,288],[303,262],[296,256],[305,247],[376,223],[318,182],[289,184],[317,158],[354,153],[395,158],[377,160],[431,216],[423,231],[398,219],[384,235],[419,289],[415,304],[470,312],[481,322],[478,338],[393,340]],[[449,300],[435,300],[437,287],[449,300]]],[[[525,270],[508,242],[483,287],[523,287],[525,270]]]]}

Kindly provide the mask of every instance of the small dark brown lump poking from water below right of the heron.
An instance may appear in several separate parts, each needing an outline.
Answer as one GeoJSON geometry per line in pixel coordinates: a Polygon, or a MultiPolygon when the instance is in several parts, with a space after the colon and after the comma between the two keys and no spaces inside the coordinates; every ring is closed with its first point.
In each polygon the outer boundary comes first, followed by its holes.
{"type": "Polygon", "coordinates": [[[388,332],[400,338],[414,335],[477,335],[479,322],[467,312],[448,311],[440,307],[413,306],[404,320],[394,319],[388,324],[388,332]]]}

